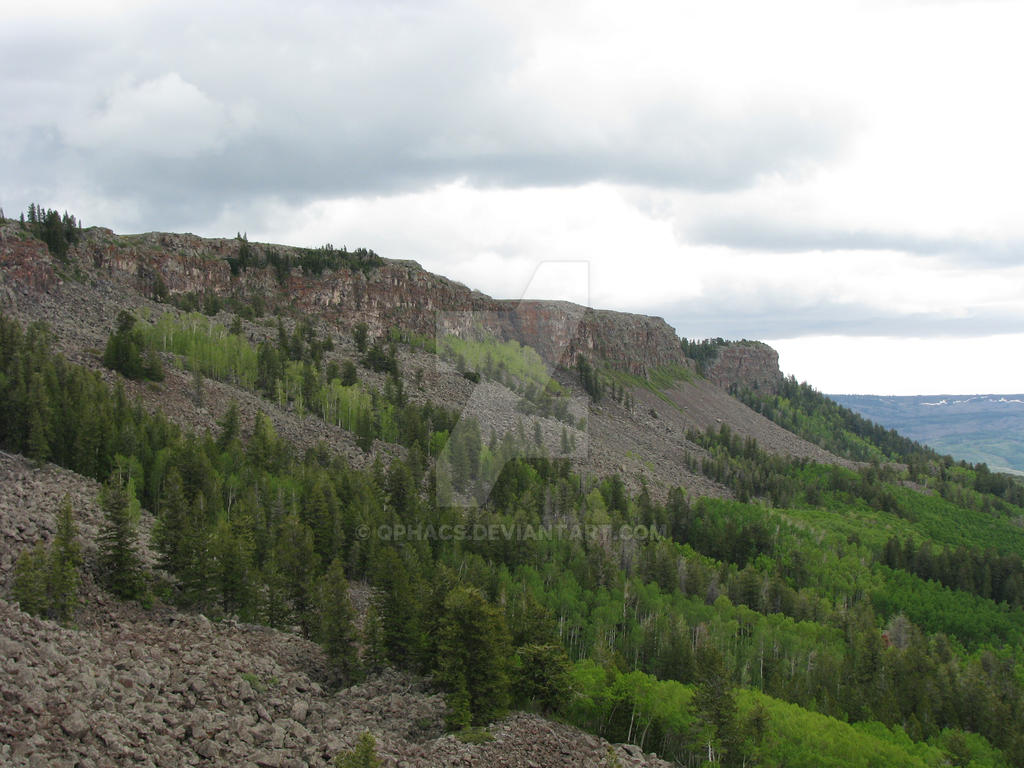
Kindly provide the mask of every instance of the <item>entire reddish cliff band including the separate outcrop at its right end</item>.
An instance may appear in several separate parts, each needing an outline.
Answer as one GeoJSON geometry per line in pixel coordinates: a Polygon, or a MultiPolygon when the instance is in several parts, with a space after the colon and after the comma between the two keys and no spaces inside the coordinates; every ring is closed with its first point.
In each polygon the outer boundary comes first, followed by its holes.
{"type": "MultiPolygon", "coordinates": [[[[288,266],[316,254],[309,249],[189,233],[118,236],[90,227],[72,248],[69,263],[60,264],[14,222],[0,226],[0,281],[5,281],[0,283],[0,300],[13,290],[49,291],[60,282],[62,271],[73,271],[80,260],[93,273],[127,282],[151,297],[166,292],[259,300],[268,310],[294,307],[343,328],[366,323],[374,336],[392,327],[425,336],[482,330],[528,344],[550,364],[569,368],[581,356],[638,376],[660,366],[693,368],[676,332],[660,317],[562,301],[494,299],[428,272],[415,261],[374,255],[360,263],[353,256],[349,268],[317,273],[288,266]],[[240,267],[243,249],[251,263],[240,267]],[[273,265],[268,258],[275,260],[273,265]]],[[[725,389],[771,391],[781,380],[778,354],[760,342],[724,343],[706,374],[725,389]]]]}

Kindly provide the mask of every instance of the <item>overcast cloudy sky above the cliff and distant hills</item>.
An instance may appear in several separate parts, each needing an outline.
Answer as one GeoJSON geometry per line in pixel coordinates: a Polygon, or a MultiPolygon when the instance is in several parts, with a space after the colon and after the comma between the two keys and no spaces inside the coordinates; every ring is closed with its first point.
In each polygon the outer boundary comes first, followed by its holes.
{"type": "Polygon", "coordinates": [[[941,0],[23,3],[0,206],[365,246],[765,340],[824,392],[1019,393],[1021,29],[941,0]]]}

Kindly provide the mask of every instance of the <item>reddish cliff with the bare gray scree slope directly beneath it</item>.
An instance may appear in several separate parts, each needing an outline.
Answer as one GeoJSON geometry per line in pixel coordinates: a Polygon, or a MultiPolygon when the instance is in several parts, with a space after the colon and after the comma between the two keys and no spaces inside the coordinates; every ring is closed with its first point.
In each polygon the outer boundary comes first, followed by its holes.
{"type": "MultiPolygon", "coordinates": [[[[668,489],[682,485],[696,495],[728,495],[728,490],[710,483],[699,472],[682,462],[685,453],[697,456],[702,450],[686,439],[688,429],[706,429],[722,423],[736,433],[757,439],[767,450],[816,461],[845,463],[775,424],[753,413],[727,395],[729,372],[742,376],[740,358],[716,375],[719,386],[692,375],[685,367],[679,339],[659,318],[585,309],[566,302],[496,301],[478,292],[422,270],[414,262],[380,260],[369,273],[340,269],[308,272],[293,267],[284,280],[269,266],[251,267],[232,274],[229,261],[238,258],[241,248],[255,248],[239,240],[204,240],[195,236],[158,234],[118,237],[110,230],[93,227],[84,231],[72,252],[72,264],[56,262],[45,246],[25,240],[16,227],[8,224],[6,246],[0,251],[0,308],[26,323],[44,321],[55,332],[60,350],[72,360],[101,370],[100,351],[114,329],[122,309],[138,310],[155,318],[181,310],[165,302],[156,302],[154,286],[161,284],[171,297],[216,297],[221,323],[229,326],[232,305],[258,301],[265,307],[288,307],[288,312],[309,311],[317,333],[334,340],[336,349],[329,359],[342,361],[357,356],[351,341],[351,329],[358,323],[368,326],[371,337],[386,335],[389,329],[401,328],[427,338],[455,331],[470,333],[484,329],[499,339],[514,338],[531,345],[545,357],[555,379],[570,391],[580,392],[572,368],[581,357],[594,360],[608,377],[625,375],[625,386],[635,399],[631,409],[605,397],[584,401],[580,416],[586,425],[578,434],[574,459],[581,468],[595,475],[622,472],[631,487],[644,478],[657,498],[668,489]],[[65,276],[60,276],[65,275],[65,276]],[[226,311],[225,311],[226,310],[226,311]],[[563,367],[559,370],[559,367],[563,367]],[[565,370],[565,367],[568,370],[565,370]],[[673,368],[674,367],[674,368],[673,368]],[[663,382],[656,391],[635,374],[674,370],[677,373],[663,382]],[[664,390],[664,391],[662,391],[664,390]],[[668,393],[668,396],[667,396],[668,393]],[[652,415],[653,414],[653,415],[652,415]],[[588,439],[589,434],[589,439],[588,439]],[[644,456],[641,462],[636,457],[644,456]]],[[[307,253],[284,246],[262,246],[271,254],[290,254],[298,259],[307,253]]],[[[156,293],[163,295],[162,290],[156,293]]],[[[180,302],[179,302],[180,303],[180,302]]],[[[286,314],[289,331],[294,322],[286,314]]],[[[274,328],[265,318],[253,317],[243,323],[247,337],[258,343],[272,340],[274,328]]],[[[453,366],[425,355],[412,347],[399,350],[400,370],[406,389],[413,398],[438,402],[459,412],[470,406],[484,429],[495,427],[499,435],[518,421],[527,429],[532,420],[516,411],[519,396],[499,387],[493,391],[477,388],[463,379],[453,366]],[[419,384],[414,373],[423,370],[419,384]],[[474,396],[475,392],[475,396],[474,396]],[[474,409],[473,404],[479,406],[474,409]]],[[[774,365],[771,364],[771,365],[774,365]]],[[[777,369],[776,369],[777,373],[777,369]]],[[[103,374],[113,381],[114,376],[103,374]]],[[[365,375],[375,386],[383,387],[383,376],[365,375]]],[[[213,382],[209,401],[198,409],[189,402],[190,381],[187,374],[168,369],[166,392],[159,395],[144,385],[129,384],[133,396],[157,408],[173,398],[168,415],[193,428],[215,428],[216,420],[226,410],[226,390],[213,382]],[[203,413],[198,413],[202,411],[203,413]]],[[[256,406],[243,395],[243,415],[252,421],[256,406]]],[[[297,444],[309,446],[326,439],[356,463],[362,461],[350,438],[340,430],[325,429],[295,418],[294,412],[267,408],[274,426],[297,444]]],[[[555,452],[564,424],[541,418],[544,442],[555,452]]],[[[390,455],[400,454],[398,446],[379,445],[390,455]]]]}

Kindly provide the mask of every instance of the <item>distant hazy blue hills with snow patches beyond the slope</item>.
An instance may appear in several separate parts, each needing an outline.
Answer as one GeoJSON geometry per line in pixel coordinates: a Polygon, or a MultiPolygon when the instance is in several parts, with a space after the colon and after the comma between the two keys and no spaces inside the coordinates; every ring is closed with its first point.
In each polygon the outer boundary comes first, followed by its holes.
{"type": "Polygon", "coordinates": [[[1024,474],[1024,394],[828,396],[941,454],[1024,474]]]}

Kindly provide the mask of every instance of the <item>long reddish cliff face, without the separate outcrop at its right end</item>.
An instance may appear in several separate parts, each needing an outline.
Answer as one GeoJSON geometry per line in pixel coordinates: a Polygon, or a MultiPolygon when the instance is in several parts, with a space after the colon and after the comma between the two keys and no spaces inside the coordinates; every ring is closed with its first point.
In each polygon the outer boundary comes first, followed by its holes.
{"type": "MultiPolygon", "coordinates": [[[[14,231],[9,226],[8,231],[14,231]]],[[[56,280],[52,269],[43,274],[25,264],[42,268],[48,255],[22,253],[27,243],[0,248],[0,259],[17,260],[18,274],[44,289],[56,280]]],[[[551,364],[575,365],[581,356],[596,357],[637,375],[686,358],[673,329],[660,317],[584,308],[558,301],[504,301],[424,270],[413,261],[384,260],[366,272],[351,269],[321,275],[292,269],[279,280],[270,267],[248,268],[234,274],[228,258],[238,257],[237,239],[204,239],[195,234],[151,232],[119,237],[110,229],[92,227],[73,250],[73,257],[127,280],[132,287],[154,295],[162,284],[172,293],[215,293],[222,297],[262,297],[269,307],[294,306],[327,317],[343,327],[366,323],[371,334],[392,326],[427,336],[438,330],[456,334],[474,328],[516,339],[535,347],[551,364]]],[[[268,246],[253,245],[255,249],[268,246]]],[[[301,249],[272,247],[282,256],[298,256],[301,249]]],[[[5,271],[12,273],[5,268],[5,271]]]]}

